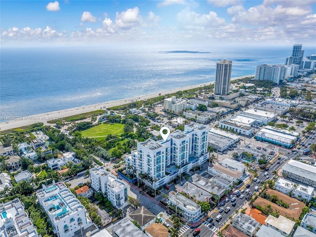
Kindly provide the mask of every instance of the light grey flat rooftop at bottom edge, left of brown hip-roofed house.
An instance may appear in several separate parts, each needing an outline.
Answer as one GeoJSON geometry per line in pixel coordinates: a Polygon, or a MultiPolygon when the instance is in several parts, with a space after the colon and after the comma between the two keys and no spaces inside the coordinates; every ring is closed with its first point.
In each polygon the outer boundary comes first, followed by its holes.
{"type": "Polygon", "coordinates": [[[122,220],[118,221],[113,226],[111,226],[110,229],[117,235],[117,237],[147,237],[147,235],[145,235],[127,218],[123,218],[122,220]]]}

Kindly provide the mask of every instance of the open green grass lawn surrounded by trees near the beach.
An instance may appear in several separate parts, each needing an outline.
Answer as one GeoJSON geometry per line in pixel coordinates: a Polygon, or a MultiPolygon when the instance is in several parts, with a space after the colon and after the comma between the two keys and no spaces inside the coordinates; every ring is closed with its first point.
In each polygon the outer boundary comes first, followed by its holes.
{"type": "Polygon", "coordinates": [[[118,135],[123,133],[123,124],[111,123],[111,124],[100,124],[93,128],[84,130],[81,132],[82,137],[105,137],[108,134],[118,135]]]}

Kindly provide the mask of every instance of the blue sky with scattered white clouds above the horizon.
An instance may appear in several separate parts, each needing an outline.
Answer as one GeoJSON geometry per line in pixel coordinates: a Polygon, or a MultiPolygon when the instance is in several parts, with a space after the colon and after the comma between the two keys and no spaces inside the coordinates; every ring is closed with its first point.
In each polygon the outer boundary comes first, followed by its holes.
{"type": "Polygon", "coordinates": [[[1,45],[316,46],[316,0],[0,0],[1,45]]]}

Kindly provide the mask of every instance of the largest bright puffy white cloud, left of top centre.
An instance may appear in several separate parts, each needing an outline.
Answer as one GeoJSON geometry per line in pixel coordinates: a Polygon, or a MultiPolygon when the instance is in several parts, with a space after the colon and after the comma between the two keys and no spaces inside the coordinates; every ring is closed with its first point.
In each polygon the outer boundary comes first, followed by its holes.
{"type": "Polygon", "coordinates": [[[141,24],[142,17],[138,7],[129,8],[121,13],[116,13],[116,25],[121,29],[131,29],[141,24]]]}

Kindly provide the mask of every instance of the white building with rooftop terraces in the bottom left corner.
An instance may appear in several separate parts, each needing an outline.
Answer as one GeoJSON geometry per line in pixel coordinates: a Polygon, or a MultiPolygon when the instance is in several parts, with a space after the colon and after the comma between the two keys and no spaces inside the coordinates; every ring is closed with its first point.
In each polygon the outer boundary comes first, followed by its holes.
{"type": "Polygon", "coordinates": [[[0,213],[1,237],[40,237],[18,198],[6,203],[2,202],[0,213]]]}

